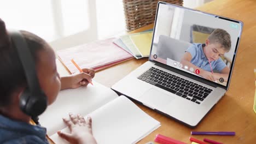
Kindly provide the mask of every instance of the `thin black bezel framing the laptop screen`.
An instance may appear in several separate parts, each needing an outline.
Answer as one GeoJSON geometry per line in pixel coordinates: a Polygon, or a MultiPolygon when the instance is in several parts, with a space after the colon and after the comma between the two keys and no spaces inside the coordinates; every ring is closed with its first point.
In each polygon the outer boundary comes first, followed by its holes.
{"type": "Polygon", "coordinates": [[[168,70],[174,71],[175,73],[178,73],[178,74],[181,74],[181,75],[185,75],[185,76],[189,77],[190,79],[194,79],[194,80],[200,81],[202,83],[205,83],[205,84],[213,86],[213,87],[221,87],[221,88],[224,88],[224,89],[228,90],[229,85],[230,85],[232,70],[234,69],[234,63],[235,63],[235,58],[236,58],[236,55],[237,55],[238,45],[239,45],[240,39],[241,39],[242,28],[243,28],[243,22],[242,21],[238,21],[238,20],[227,18],[227,17],[206,13],[206,12],[200,11],[200,10],[195,10],[195,9],[181,7],[179,5],[174,5],[174,4],[165,3],[165,2],[158,2],[158,7],[156,9],[156,14],[155,14],[155,23],[154,23],[154,29],[153,29],[153,37],[152,37],[152,44],[151,44],[151,49],[150,49],[149,61],[156,63],[156,65],[160,65],[162,67],[165,67],[168,70]],[[177,8],[181,8],[181,9],[187,9],[187,10],[196,11],[196,12],[199,12],[199,13],[202,13],[202,14],[211,15],[211,16],[217,17],[219,19],[223,19],[223,20],[227,20],[227,21],[231,21],[231,22],[236,22],[236,23],[238,23],[241,26],[240,33],[238,34],[238,37],[237,37],[236,47],[235,47],[235,51],[234,51],[234,57],[232,59],[231,65],[230,65],[230,72],[229,72],[228,81],[226,82],[226,86],[223,86],[223,85],[220,85],[219,83],[216,83],[216,82],[207,80],[205,78],[202,78],[202,77],[199,77],[199,76],[187,73],[186,71],[183,71],[183,70],[171,67],[171,66],[169,66],[167,64],[163,64],[163,63],[160,63],[158,61],[154,61],[154,59],[150,59],[150,57],[152,57],[152,49],[153,49],[153,41],[154,41],[154,35],[155,35],[155,27],[156,27],[156,22],[157,22],[157,19],[158,19],[158,11],[159,11],[159,5],[160,4],[164,4],[164,5],[168,5],[168,6],[171,5],[172,7],[177,7],[177,8]]]}

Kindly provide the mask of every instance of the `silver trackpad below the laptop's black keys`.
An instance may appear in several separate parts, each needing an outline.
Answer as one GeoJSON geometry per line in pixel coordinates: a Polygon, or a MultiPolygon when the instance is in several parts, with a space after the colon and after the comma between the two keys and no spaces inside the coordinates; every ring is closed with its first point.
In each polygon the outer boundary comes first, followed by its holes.
{"type": "Polygon", "coordinates": [[[160,92],[154,88],[150,88],[140,98],[142,103],[153,107],[166,106],[174,99],[171,95],[160,92]]]}

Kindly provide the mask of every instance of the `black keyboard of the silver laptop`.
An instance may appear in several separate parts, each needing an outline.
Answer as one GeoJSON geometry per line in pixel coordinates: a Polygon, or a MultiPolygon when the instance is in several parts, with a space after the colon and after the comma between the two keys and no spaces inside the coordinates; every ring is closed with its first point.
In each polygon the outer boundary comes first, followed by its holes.
{"type": "Polygon", "coordinates": [[[156,87],[165,89],[168,92],[174,93],[179,97],[193,101],[196,104],[201,104],[212,92],[212,89],[210,88],[154,67],[148,69],[137,78],[156,87]]]}

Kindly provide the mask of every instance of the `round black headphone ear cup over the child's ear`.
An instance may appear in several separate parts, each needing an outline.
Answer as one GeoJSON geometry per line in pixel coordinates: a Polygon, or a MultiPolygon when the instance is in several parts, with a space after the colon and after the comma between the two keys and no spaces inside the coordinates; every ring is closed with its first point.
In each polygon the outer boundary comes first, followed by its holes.
{"type": "Polygon", "coordinates": [[[48,105],[46,95],[41,91],[39,95],[31,95],[28,89],[20,97],[21,110],[29,116],[37,117],[48,105]]]}

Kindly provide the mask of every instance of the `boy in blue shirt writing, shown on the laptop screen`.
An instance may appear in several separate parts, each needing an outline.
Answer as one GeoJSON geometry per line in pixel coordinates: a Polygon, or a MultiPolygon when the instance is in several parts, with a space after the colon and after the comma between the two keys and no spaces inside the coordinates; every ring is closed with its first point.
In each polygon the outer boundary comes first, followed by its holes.
{"type": "Polygon", "coordinates": [[[185,51],[181,63],[194,70],[199,69],[199,75],[207,80],[216,81],[223,78],[226,82],[230,69],[220,57],[229,52],[230,48],[230,34],[217,28],[209,35],[205,44],[191,45],[185,51]]]}

